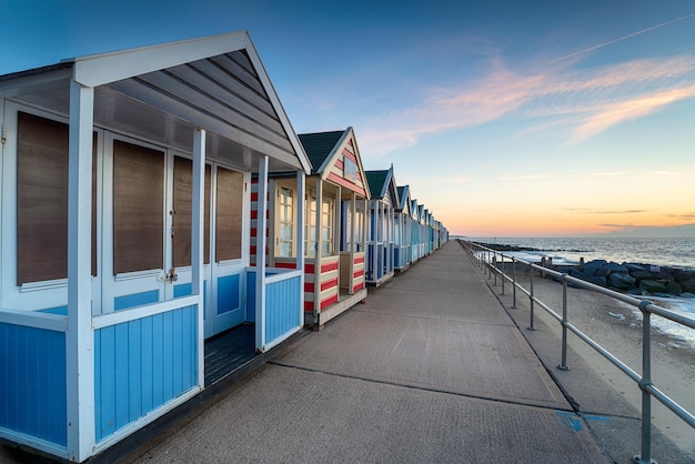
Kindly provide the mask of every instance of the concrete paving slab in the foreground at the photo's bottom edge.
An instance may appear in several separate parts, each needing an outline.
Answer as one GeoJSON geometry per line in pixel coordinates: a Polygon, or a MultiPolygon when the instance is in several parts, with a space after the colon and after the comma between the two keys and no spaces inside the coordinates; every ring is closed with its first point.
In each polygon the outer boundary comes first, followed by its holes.
{"type": "Polygon", "coordinates": [[[269,365],[139,463],[608,462],[566,413],[269,365]]]}

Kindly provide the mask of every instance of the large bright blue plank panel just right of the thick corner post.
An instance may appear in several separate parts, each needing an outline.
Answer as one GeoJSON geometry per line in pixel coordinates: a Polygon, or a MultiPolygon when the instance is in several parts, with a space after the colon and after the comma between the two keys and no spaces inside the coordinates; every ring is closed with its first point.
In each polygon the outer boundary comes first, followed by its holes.
{"type": "Polygon", "coordinates": [[[97,442],[195,386],[195,325],[187,306],[94,332],[97,442]]]}

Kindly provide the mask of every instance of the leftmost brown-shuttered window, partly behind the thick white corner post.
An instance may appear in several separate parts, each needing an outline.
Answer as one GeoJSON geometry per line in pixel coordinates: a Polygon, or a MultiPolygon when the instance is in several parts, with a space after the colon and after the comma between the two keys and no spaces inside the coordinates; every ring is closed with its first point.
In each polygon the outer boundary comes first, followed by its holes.
{"type": "MultiPolygon", "coordinates": [[[[17,113],[17,284],[68,278],[68,124],[17,113]]],[[[97,275],[97,134],[92,275],[97,275]]]]}

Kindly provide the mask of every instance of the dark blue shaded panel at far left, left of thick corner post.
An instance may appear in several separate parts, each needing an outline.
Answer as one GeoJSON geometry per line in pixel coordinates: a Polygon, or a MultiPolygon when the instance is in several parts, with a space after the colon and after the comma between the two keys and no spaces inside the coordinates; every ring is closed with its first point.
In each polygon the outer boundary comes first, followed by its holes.
{"type": "Polygon", "coordinates": [[[0,323],[0,427],[68,445],[66,334],[0,323]]]}

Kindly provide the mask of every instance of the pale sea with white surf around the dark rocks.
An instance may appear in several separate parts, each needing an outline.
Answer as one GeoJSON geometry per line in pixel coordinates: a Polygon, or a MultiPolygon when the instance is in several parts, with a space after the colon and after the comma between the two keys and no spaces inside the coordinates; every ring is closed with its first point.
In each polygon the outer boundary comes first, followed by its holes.
{"type": "MultiPolygon", "coordinates": [[[[528,262],[540,262],[552,258],[556,264],[578,264],[592,260],[606,260],[616,263],[641,263],[675,269],[695,270],[695,238],[465,238],[481,243],[515,245],[531,249],[520,252],[504,252],[528,262]]],[[[655,304],[674,313],[695,320],[695,299],[649,296],[655,304]]],[[[639,310],[633,313],[641,319],[639,310]]],[[[695,347],[695,330],[669,320],[653,316],[654,326],[678,343],[695,347]]]]}

